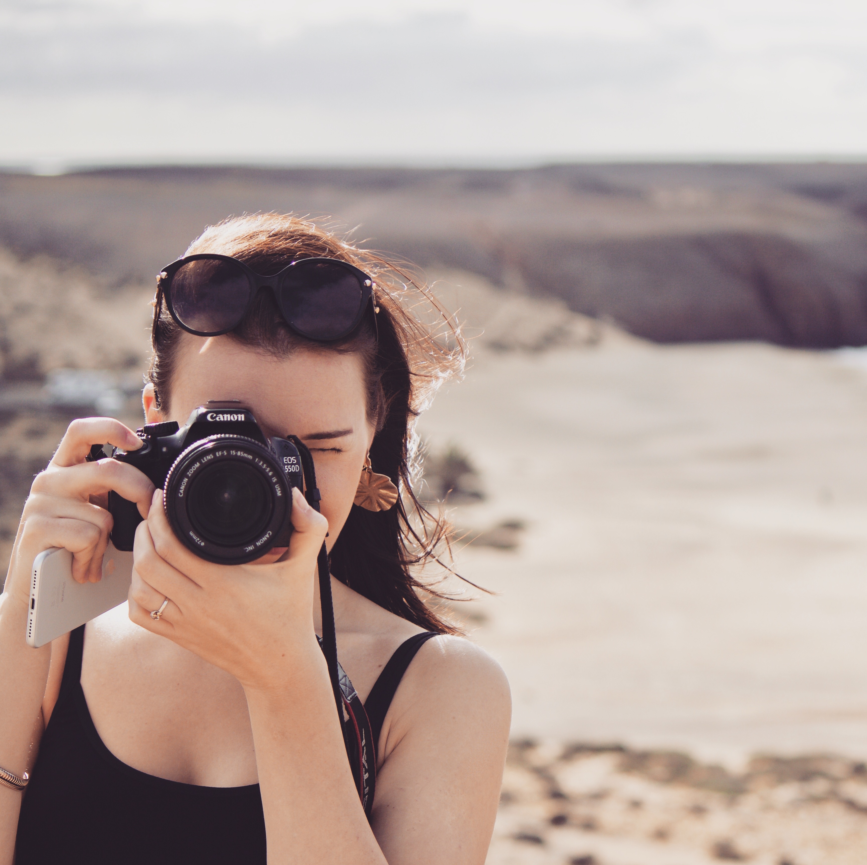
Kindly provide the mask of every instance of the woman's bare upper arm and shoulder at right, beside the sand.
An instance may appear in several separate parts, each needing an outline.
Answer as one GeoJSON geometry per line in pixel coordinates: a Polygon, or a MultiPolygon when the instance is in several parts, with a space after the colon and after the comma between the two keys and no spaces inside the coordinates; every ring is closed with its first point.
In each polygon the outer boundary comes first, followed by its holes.
{"type": "Polygon", "coordinates": [[[373,826],[388,865],[482,865],[512,700],[496,661],[460,637],[420,648],[394,694],[373,826]]]}

